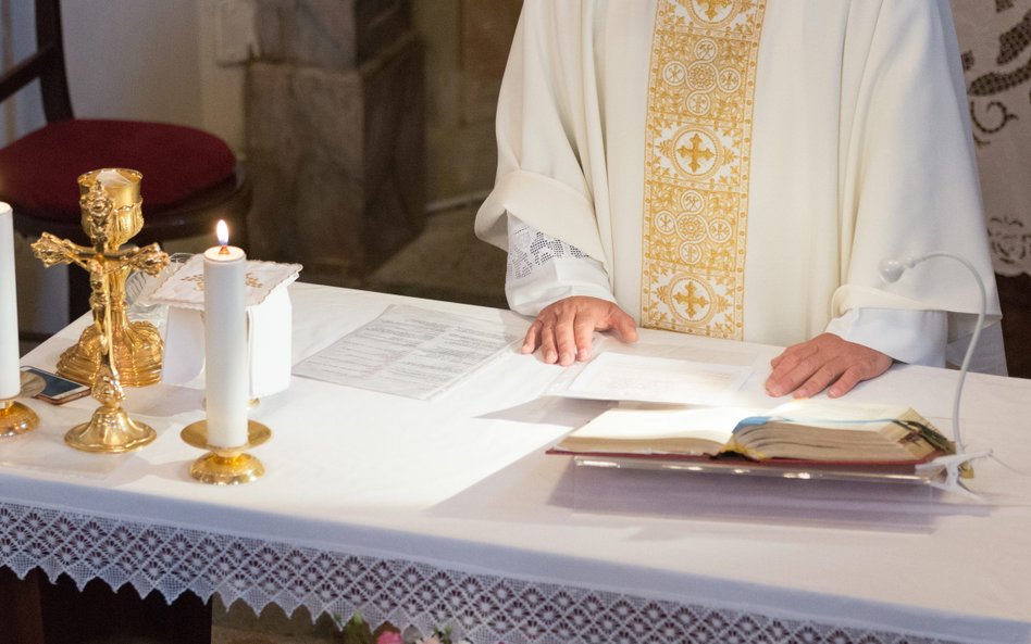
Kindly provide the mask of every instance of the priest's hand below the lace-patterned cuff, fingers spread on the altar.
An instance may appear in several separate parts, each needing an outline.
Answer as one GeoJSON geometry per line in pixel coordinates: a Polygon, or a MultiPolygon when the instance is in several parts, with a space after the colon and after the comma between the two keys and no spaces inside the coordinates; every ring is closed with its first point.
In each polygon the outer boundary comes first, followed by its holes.
{"type": "Polygon", "coordinates": [[[521,351],[541,349],[545,363],[568,366],[591,357],[595,331],[612,331],[623,342],[637,340],[637,325],[622,308],[608,300],[574,295],[544,307],[530,325],[521,351]]]}

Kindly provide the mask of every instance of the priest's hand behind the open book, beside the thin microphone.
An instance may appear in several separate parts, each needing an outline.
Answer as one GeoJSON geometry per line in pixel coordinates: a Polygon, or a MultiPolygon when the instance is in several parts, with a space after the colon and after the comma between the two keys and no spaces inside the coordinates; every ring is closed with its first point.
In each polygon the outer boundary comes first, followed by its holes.
{"type": "Polygon", "coordinates": [[[886,371],[892,358],[833,333],[820,333],[788,346],[770,365],[773,372],[766,381],[766,391],[772,396],[795,392],[795,397],[808,397],[827,389],[829,396],[837,397],[886,371]]]}

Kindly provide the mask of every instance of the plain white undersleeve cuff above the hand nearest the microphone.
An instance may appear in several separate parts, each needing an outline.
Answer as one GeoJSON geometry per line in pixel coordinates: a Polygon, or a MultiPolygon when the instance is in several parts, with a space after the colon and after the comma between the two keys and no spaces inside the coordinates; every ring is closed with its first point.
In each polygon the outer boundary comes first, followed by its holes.
{"type": "Polygon", "coordinates": [[[827,332],[900,363],[945,366],[948,316],[944,311],[853,308],[832,319],[827,332]]]}

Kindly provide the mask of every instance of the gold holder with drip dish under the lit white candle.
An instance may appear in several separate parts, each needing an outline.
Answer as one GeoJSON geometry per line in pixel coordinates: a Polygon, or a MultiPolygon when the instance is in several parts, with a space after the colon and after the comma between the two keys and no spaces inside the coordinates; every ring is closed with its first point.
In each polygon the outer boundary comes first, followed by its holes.
{"type": "Polygon", "coordinates": [[[257,457],[245,454],[247,450],[261,445],[272,438],[272,430],[254,420],[247,421],[247,442],[235,447],[208,444],[208,421],[198,420],[183,428],[183,442],[199,450],[209,450],[194,462],[189,476],[211,485],[238,485],[249,483],[265,473],[265,467],[257,457]]]}

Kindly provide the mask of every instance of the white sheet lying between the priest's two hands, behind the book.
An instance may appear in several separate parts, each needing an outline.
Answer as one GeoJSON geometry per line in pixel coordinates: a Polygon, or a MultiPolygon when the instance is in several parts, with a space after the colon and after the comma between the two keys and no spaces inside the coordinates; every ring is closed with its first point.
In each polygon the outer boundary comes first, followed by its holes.
{"type": "Polygon", "coordinates": [[[745,383],[751,367],[606,352],[548,393],[566,397],[674,404],[719,404],[745,383]]]}

